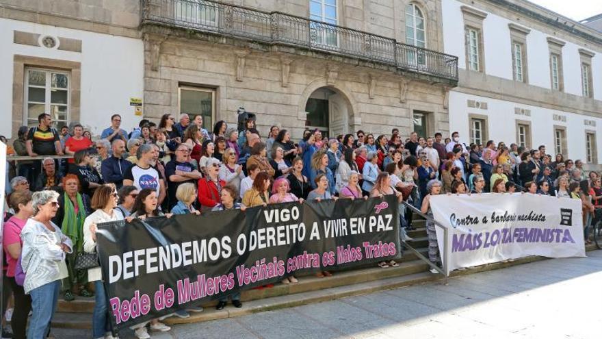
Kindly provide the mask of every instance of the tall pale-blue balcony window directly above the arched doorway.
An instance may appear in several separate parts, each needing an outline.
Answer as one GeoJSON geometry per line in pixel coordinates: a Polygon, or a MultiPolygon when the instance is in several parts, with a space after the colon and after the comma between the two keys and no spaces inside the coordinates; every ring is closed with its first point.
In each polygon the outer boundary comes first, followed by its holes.
{"type": "MultiPolygon", "coordinates": [[[[321,23],[337,25],[337,0],[310,0],[309,18],[321,23]]],[[[339,36],[335,29],[329,25],[310,23],[312,34],[315,34],[315,42],[318,45],[338,46],[339,36]]]]}

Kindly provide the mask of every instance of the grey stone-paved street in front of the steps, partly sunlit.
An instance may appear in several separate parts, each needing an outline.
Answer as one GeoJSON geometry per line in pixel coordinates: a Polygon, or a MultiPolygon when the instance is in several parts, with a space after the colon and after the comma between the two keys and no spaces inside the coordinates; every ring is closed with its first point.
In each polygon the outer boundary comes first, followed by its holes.
{"type": "MultiPolygon", "coordinates": [[[[598,339],[602,251],[588,255],[466,275],[449,279],[448,286],[425,284],[176,325],[153,338],[598,339]]],[[[59,329],[53,333],[57,338],[86,335],[59,329]]]]}

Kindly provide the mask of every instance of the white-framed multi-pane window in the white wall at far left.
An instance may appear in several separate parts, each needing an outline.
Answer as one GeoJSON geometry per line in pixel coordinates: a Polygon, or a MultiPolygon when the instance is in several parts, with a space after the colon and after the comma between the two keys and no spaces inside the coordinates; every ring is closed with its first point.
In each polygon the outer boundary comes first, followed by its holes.
{"type": "Polygon", "coordinates": [[[23,123],[38,125],[38,115],[48,113],[53,127],[68,125],[70,119],[70,73],[27,68],[25,70],[25,114],[23,123]]]}

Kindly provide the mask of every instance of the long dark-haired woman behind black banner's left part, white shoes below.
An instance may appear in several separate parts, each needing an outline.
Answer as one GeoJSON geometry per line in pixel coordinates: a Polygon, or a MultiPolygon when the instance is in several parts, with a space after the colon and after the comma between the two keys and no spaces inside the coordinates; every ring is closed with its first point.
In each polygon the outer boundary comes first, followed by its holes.
{"type": "MultiPolygon", "coordinates": [[[[159,210],[159,203],[157,199],[157,192],[153,188],[144,188],[136,197],[136,201],[134,203],[134,208],[132,210],[131,218],[139,218],[140,220],[144,220],[146,218],[153,218],[156,216],[166,216],[171,218],[173,214],[163,214],[161,210],[159,210]]],[[[146,329],[146,323],[140,323],[138,325],[134,325],[131,329],[134,330],[134,334],[136,338],[139,339],[148,339],[150,336],[148,335],[148,330],[146,329]]],[[[159,322],[159,319],[153,319],[150,321],[150,329],[154,331],[166,332],[172,329],[168,325],[165,325],[159,322]]]]}

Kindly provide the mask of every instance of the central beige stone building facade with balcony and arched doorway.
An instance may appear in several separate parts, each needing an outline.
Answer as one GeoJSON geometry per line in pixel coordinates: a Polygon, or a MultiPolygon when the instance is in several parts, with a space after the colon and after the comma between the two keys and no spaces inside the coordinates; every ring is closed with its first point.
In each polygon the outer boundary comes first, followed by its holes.
{"type": "Polygon", "coordinates": [[[147,117],[192,113],[206,126],[233,124],[243,107],[262,133],[280,125],[293,138],[308,127],[330,136],[449,130],[456,58],[436,52],[441,1],[411,2],[426,27],[417,44],[434,51],[398,43],[407,42],[410,1],[144,3],[147,117]]]}

